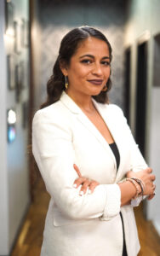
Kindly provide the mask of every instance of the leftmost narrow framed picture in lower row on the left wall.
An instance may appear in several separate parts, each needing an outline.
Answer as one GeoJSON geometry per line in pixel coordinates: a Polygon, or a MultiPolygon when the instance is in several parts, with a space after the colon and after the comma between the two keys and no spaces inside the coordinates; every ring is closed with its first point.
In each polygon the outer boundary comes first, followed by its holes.
{"type": "Polygon", "coordinates": [[[7,55],[7,77],[8,77],[8,88],[14,90],[15,88],[15,65],[14,55],[7,55]]]}

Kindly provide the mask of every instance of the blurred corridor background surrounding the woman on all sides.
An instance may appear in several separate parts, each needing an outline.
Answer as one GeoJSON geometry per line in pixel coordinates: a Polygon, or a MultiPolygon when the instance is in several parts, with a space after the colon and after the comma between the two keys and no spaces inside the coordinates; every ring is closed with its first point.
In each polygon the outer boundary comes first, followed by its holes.
{"type": "Polygon", "coordinates": [[[139,255],[160,255],[159,14],[159,0],[0,0],[0,256],[40,253],[49,195],[30,153],[31,120],[61,38],[85,25],[111,43],[110,102],[157,176],[157,195],[135,213],[139,255]]]}

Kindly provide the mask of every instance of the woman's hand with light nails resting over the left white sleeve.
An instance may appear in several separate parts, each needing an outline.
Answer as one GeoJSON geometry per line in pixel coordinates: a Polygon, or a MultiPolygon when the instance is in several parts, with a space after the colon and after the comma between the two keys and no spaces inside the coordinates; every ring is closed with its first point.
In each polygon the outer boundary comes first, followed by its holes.
{"type": "Polygon", "coordinates": [[[75,188],[78,188],[80,185],[82,185],[79,195],[84,195],[87,192],[87,189],[89,189],[89,194],[92,194],[94,192],[94,189],[96,186],[98,186],[100,183],[90,179],[89,177],[83,177],[81,172],[79,171],[77,165],[73,165],[75,171],[77,172],[77,179],[73,183],[73,186],[75,188]]]}

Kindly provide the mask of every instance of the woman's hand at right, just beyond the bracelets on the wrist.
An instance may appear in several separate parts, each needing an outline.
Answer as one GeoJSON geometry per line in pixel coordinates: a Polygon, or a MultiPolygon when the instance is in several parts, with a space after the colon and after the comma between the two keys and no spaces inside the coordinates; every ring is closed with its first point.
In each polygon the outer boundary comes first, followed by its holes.
{"type": "Polygon", "coordinates": [[[156,185],[153,182],[156,179],[156,177],[155,175],[152,174],[151,168],[146,168],[145,170],[142,170],[140,172],[129,171],[127,173],[127,177],[140,178],[142,182],[145,184],[144,195],[149,195],[148,200],[151,200],[154,197],[156,185]]]}

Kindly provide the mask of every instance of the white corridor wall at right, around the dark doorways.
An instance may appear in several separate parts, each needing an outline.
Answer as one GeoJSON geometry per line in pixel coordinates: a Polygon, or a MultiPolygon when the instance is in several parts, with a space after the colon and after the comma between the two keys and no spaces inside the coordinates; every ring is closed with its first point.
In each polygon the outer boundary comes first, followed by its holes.
{"type": "MultiPolygon", "coordinates": [[[[134,130],[135,88],[136,88],[136,55],[137,44],[148,40],[147,63],[147,107],[146,107],[146,160],[153,167],[157,176],[157,195],[151,202],[147,201],[146,216],[153,221],[160,234],[160,180],[159,180],[159,98],[157,91],[153,90],[153,59],[154,37],[160,33],[160,2],[159,0],[130,0],[129,15],[126,23],[125,45],[130,46],[131,58],[131,126],[134,130]]],[[[159,92],[158,92],[159,93],[159,92]]]]}

